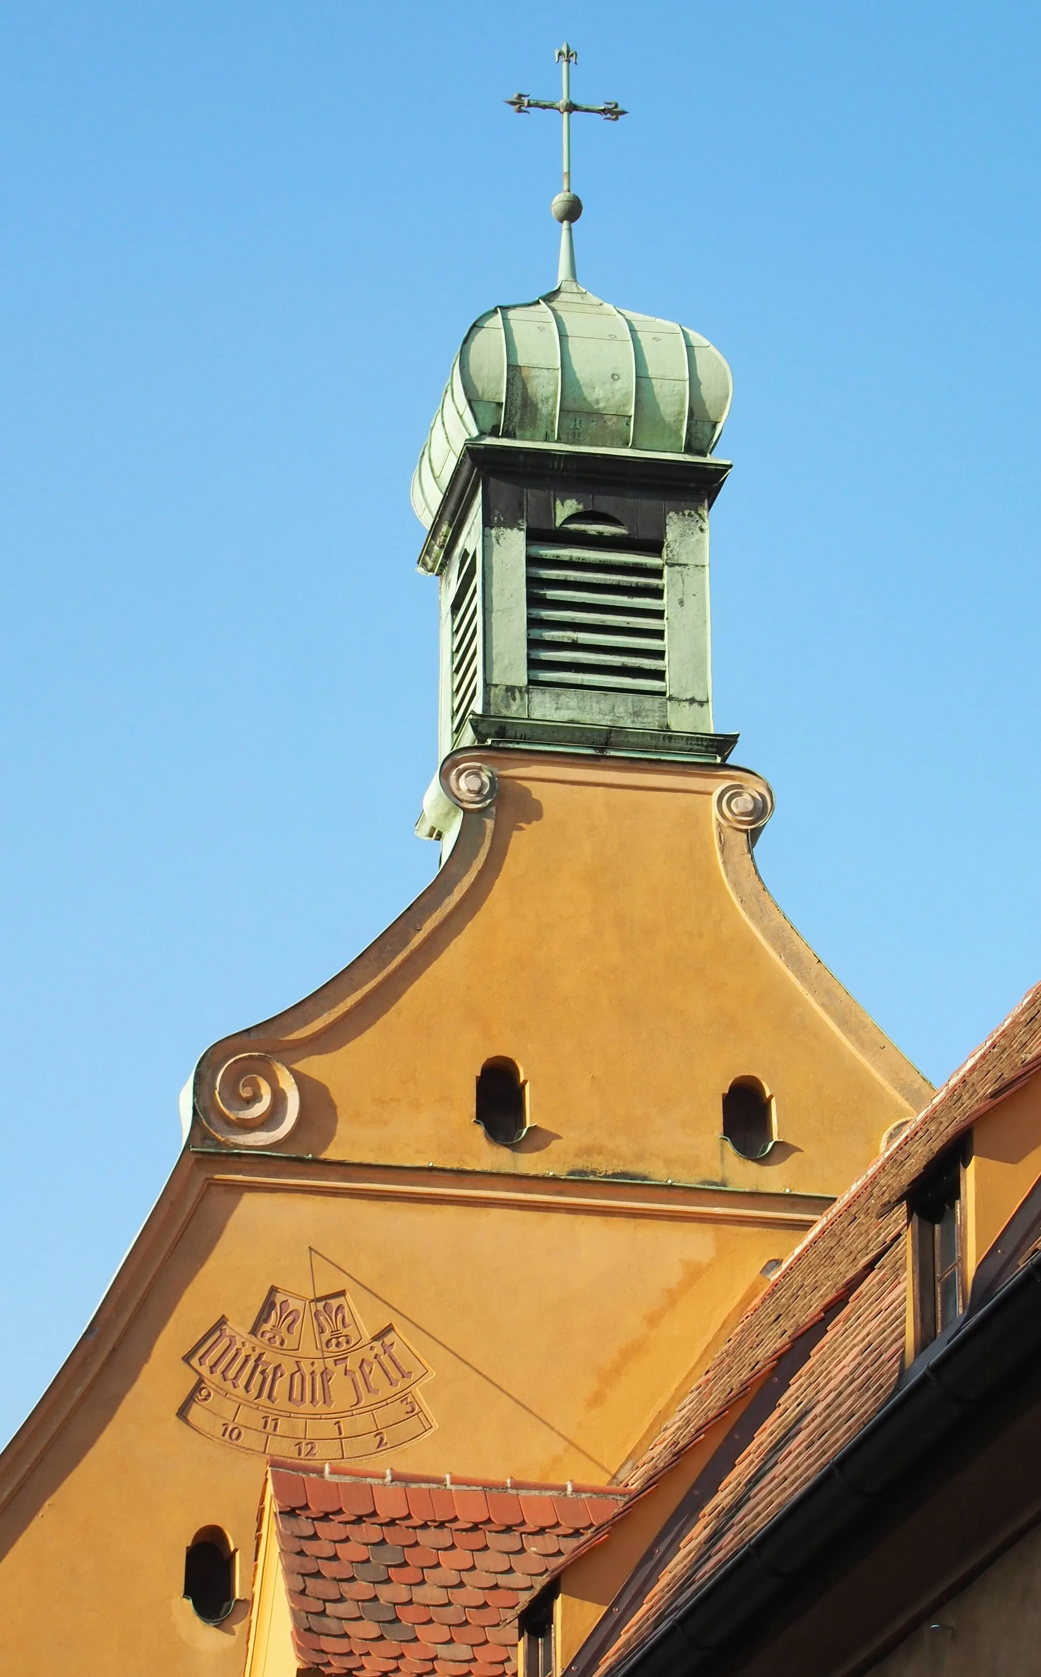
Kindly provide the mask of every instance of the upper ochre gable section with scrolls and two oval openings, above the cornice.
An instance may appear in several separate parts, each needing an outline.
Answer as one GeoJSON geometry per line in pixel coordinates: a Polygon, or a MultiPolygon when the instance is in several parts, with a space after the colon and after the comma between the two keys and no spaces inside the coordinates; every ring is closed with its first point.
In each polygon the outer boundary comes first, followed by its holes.
{"type": "Polygon", "coordinates": [[[925,1080],[793,932],[748,833],[721,820],[726,787],[768,797],[756,776],[468,755],[498,776],[495,805],[463,817],[439,879],[364,956],[203,1058],[193,1140],[267,1142],[236,1130],[236,1108],[268,1057],[285,1068],[267,1073],[275,1102],[285,1110],[285,1073],[298,1100],[292,1135],[275,1137],[293,1154],[835,1194],[924,1103],[925,1080]],[[473,1122],[491,1057],[528,1085],[515,1149],[473,1122]],[[764,1160],[721,1140],[722,1093],[743,1075],[774,1098],[764,1160]]]}

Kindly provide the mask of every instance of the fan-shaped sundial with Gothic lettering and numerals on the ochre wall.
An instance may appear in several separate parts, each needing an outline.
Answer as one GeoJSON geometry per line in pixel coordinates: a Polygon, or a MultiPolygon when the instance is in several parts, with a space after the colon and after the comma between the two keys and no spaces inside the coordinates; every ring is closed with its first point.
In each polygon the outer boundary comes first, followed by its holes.
{"type": "Polygon", "coordinates": [[[184,1357],[196,1384],[178,1414],[258,1456],[355,1461],[431,1432],[417,1387],[431,1370],[394,1325],[365,1333],[345,1290],[268,1290],[253,1327],[226,1316],[184,1357]]]}

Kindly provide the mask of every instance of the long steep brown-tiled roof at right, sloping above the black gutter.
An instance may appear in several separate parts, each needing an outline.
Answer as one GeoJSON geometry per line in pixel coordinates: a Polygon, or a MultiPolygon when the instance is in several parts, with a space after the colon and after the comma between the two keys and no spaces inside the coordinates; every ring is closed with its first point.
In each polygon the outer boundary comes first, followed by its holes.
{"type": "MultiPolygon", "coordinates": [[[[803,1491],[892,1395],[907,1310],[904,1196],[969,1124],[1041,1072],[1041,984],[987,1036],[885,1154],[825,1212],[629,1474],[645,1491],[788,1347],[830,1325],[637,1610],[590,1665],[607,1677],[682,1598],[803,1491]],[[845,1301],[845,1303],[843,1303],[845,1301]]],[[[575,1662],[580,1669],[583,1659],[575,1662]]]]}

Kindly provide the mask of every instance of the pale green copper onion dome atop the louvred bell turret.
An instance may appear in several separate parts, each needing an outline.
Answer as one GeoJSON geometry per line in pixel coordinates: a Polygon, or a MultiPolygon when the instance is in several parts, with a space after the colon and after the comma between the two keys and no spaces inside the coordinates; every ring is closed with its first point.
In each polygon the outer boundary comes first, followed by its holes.
{"type": "Polygon", "coordinates": [[[707,339],[565,280],[474,320],[419,456],[412,506],[429,528],[468,438],[711,454],[731,391],[707,339]]]}

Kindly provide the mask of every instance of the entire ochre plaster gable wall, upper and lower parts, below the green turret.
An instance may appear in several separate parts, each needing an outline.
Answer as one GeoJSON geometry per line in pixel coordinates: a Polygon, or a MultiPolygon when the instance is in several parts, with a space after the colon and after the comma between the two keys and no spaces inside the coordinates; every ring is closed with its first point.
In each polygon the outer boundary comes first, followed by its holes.
{"type": "Polygon", "coordinates": [[[189,1145],[0,1457],[12,1670],[282,1677],[273,1457],[610,1482],[927,1095],[764,892],[756,776],[471,758],[498,797],[419,901],[203,1057],[189,1145]],[[516,1147],[473,1122],[496,1055],[528,1080],[516,1147]],[[741,1075],[776,1103],[759,1162],[719,1139],[741,1075]],[[238,1556],[218,1627],[183,1598],[206,1526],[238,1556]]]}

